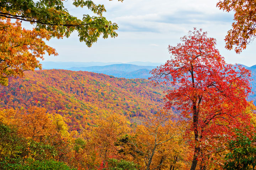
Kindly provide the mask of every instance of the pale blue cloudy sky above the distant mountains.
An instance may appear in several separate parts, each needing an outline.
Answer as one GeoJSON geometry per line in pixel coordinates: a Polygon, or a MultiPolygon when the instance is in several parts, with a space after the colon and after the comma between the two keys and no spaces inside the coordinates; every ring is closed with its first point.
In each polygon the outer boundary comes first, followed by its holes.
{"type": "MultiPolygon", "coordinates": [[[[217,39],[217,49],[227,63],[256,64],[256,42],[237,55],[225,49],[225,35],[233,22],[233,12],[224,12],[216,7],[218,0],[94,0],[104,4],[104,16],[118,24],[116,38],[102,39],[92,47],[80,42],[77,33],[69,38],[51,39],[48,45],[59,55],[44,56],[44,61],[62,62],[161,62],[170,59],[168,45],[176,46],[180,37],[194,27],[208,32],[208,37],[217,39]]],[[[75,8],[72,0],[64,1],[68,11],[79,18],[91,14],[86,8],[75,8]]]]}

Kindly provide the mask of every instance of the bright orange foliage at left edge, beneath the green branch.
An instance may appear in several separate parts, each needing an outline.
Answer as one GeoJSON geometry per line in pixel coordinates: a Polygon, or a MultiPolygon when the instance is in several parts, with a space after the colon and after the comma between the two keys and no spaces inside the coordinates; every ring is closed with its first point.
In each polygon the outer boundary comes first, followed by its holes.
{"type": "Polygon", "coordinates": [[[58,55],[43,39],[50,39],[48,31],[22,29],[20,22],[0,18],[0,85],[7,86],[9,77],[23,77],[25,70],[42,69],[37,58],[46,52],[58,55]]]}

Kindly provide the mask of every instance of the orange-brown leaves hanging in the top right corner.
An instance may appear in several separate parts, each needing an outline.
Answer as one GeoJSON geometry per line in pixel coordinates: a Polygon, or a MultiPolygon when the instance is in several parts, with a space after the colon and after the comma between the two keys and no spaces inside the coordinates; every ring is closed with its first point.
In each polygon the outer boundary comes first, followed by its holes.
{"type": "Polygon", "coordinates": [[[217,4],[223,11],[234,11],[232,29],[226,35],[226,49],[240,53],[256,37],[256,1],[253,0],[220,0],[217,4]]]}

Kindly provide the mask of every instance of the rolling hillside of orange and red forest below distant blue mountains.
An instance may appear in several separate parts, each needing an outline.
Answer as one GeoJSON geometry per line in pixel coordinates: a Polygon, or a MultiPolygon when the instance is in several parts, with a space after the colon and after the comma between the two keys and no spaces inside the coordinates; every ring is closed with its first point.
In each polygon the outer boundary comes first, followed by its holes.
{"type": "Polygon", "coordinates": [[[117,113],[128,124],[150,118],[163,106],[164,86],[146,79],[115,78],[69,70],[25,72],[0,87],[1,108],[44,107],[67,118],[71,130],[88,128],[95,120],[117,113]]]}

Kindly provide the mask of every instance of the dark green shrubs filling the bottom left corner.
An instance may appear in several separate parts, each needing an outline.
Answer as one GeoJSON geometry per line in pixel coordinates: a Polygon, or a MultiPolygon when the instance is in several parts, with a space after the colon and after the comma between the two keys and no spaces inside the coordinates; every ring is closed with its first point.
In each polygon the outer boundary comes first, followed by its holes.
{"type": "MultiPolygon", "coordinates": [[[[0,124],[0,169],[2,170],[71,170],[63,162],[55,161],[58,145],[37,142],[23,137],[13,125],[0,124]]],[[[74,169],[72,169],[74,170],[74,169]]]]}

